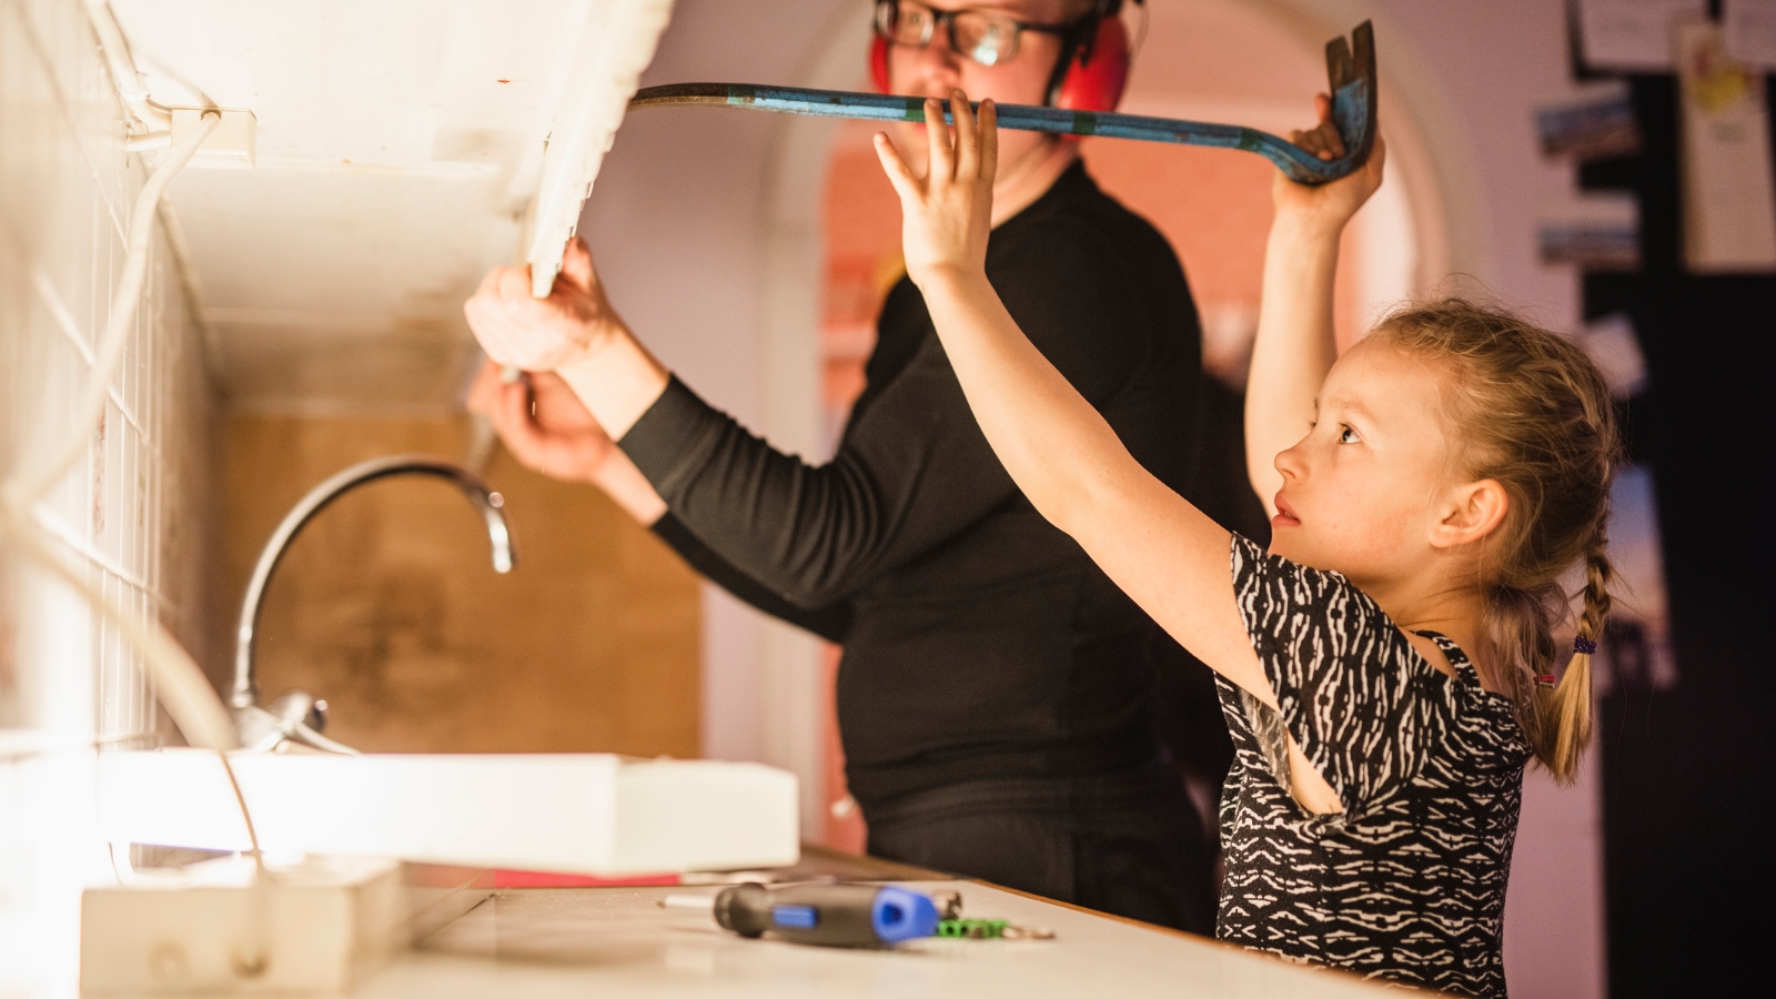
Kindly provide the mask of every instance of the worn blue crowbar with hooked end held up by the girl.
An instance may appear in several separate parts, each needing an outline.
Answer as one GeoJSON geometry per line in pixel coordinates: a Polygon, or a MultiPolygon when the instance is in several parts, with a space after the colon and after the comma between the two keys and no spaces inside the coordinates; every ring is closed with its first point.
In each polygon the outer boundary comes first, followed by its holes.
{"type": "MultiPolygon", "coordinates": [[[[1257,153],[1289,174],[1289,180],[1320,185],[1355,172],[1369,158],[1376,135],[1375,28],[1357,25],[1352,43],[1336,37],[1327,43],[1327,80],[1332,91],[1332,124],[1344,139],[1344,155],[1321,160],[1300,146],[1240,124],[1211,124],[1138,114],[1067,110],[1032,105],[998,105],[1000,128],[1051,132],[1057,135],[1103,135],[1142,142],[1213,146],[1257,153]]],[[[703,105],[746,107],[819,117],[854,117],[863,121],[925,121],[924,98],[893,94],[854,94],[847,91],[812,91],[803,87],[764,87],[755,84],[668,84],[645,87],[629,101],[630,108],[703,105]]],[[[948,105],[948,101],[945,101],[948,105]]],[[[979,103],[973,107],[980,107],[979,103]]],[[[954,116],[945,110],[945,123],[954,116]]]]}

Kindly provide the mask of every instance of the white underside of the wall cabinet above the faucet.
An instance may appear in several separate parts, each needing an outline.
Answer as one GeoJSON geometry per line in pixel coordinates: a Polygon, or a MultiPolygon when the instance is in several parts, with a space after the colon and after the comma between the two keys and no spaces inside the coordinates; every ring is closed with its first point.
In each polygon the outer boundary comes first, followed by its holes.
{"type": "Polygon", "coordinates": [[[558,260],[671,0],[112,7],[156,103],[258,121],[169,188],[231,405],[325,414],[456,405],[464,299],[558,260]]]}

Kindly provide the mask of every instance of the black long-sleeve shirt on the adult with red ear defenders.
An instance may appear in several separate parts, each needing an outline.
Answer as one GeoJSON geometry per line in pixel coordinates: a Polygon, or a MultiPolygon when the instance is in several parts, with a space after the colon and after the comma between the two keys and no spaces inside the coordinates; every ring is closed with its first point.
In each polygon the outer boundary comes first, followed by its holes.
{"type": "MultiPolygon", "coordinates": [[[[1183,491],[1201,334],[1165,238],[1074,164],[993,231],[987,277],[1135,459],[1183,491]]],[[[1012,484],[911,281],[888,293],[865,375],[822,466],[673,380],[620,441],[668,503],[659,537],[735,595],[844,642],[838,720],[865,805],[1153,759],[1163,633],[1012,484]]]]}

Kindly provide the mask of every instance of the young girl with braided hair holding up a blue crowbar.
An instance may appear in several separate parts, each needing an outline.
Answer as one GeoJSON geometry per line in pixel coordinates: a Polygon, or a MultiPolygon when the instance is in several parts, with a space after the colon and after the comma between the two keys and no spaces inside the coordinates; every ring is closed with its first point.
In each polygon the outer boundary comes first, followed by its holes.
{"type": "MultiPolygon", "coordinates": [[[[1162,485],[1018,331],[982,270],[993,105],[886,135],[908,272],[980,428],[1030,501],[1218,675],[1238,748],[1218,935],[1304,962],[1504,995],[1504,883],[1531,759],[1570,780],[1609,611],[1609,395],[1561,338],[1460,300],[1396,313],[1334,363],[1344,222],[1378,144],[1320,188],[1279,176],[1247,446],[1270,553],[1162,485]],[[1559,579],[1584,565],[1556,681],[1559,579]]],[[[943,108],[927,101],[927,121],[943,108]]],[[[1325,124],[1298,142],[1336,153],[1325,124]]]]}

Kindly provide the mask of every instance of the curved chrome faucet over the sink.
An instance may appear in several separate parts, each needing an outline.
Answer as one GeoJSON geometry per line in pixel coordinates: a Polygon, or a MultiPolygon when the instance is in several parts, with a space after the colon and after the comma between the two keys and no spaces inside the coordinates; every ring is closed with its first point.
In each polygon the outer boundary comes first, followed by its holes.
{"type": "Polygon", "coordinates": [[[265,551],[259,553],[259,562],[252,567],[252,579],[247,581],[247,595],[240,604],[240,626],[234,631],[234,690],[229,693],[229,706],[234,709],[234,727],[240,731],[243,748],[266,752],[289,741],[327,752],[357,754],[355,748],[321,734],[321,729],[327,727],[325,700],[298,690],[268,706],[259,706],[254,633],[259,629],[259,604],[265,601],[272,571],[277,569],[297,533],[314,519],[314,514],[320,514],[345,492],[391,475],[435,475],[456,484],[464,496],[481,508],[481,517],[487,521],[487,537],[494,546],[494,572],[511,572],[513,551],[511,530],[504,514],[506,501],[464,468],[424,455],[391,455],[359,462],[316,485],[284,515],[284,521],[272,531],[272,540],[265,542],[265,551]]]}

